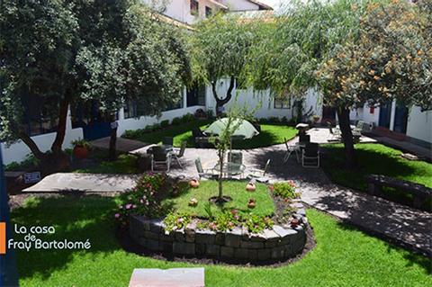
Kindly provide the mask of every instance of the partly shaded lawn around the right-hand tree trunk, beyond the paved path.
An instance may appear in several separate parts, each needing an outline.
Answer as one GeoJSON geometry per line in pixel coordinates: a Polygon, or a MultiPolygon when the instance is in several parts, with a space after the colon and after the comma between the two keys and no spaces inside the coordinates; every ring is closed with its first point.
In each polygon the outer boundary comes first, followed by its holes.
{"type": "MultiPolygon", "coordinates": [[[[341,144],[326,145],[328,153],[321,161],[322,167],[332,182],[359,191],[366,191],[365,176],[370,174],[387,175],[410,182],[432,187],[432,164],[424,161],[411,161],[401,157],[401,150],[382,144],[357,144],[356,157],[358,168],[345,167],[344,148],[341,144]]],[[[403,191],[384,188],[383,191],[396,202],[412,202],[412,196],[403,191]]],[[[430,209],[430,203],[425,205],[430,209]]]]}

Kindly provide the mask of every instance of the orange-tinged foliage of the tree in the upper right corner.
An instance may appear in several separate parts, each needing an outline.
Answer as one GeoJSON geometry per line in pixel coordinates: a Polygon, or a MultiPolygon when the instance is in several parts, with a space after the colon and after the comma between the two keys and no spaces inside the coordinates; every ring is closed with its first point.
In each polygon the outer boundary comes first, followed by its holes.
{"type": "Polygon", "coordinates": [[[417,5],[403,0],[369,4],[358,39],[339,49],[317,73],[325,101],[351,108],[396,99],[431,109],[428,28],[428,18],[417,5]]]}

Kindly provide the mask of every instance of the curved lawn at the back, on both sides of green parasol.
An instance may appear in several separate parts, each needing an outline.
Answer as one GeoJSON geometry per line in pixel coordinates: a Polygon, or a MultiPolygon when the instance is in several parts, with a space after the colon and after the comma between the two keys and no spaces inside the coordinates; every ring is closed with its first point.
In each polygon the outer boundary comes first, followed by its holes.
{"type": "MultiPolygon", "coordinates": [[[[171,125],[164,130],[145,132],[144,130],[135,130],[128,132],[128,139],[137,139],[146,143],[160,143],[164,137],[173,137],[174,146],[180,147],[181,143],[187,141],[187,147],[193,148],[192,130],[200,128],[205,130],[212,121],[190,121],[181,125],[171,125]]],[[[268,147],[284,142],[284,139],[293,139],[297,134],[295,128],[285,124],[261,124],[261,132],[253,139],[234,141],[233,148],[260,148],[268,147]]]]}

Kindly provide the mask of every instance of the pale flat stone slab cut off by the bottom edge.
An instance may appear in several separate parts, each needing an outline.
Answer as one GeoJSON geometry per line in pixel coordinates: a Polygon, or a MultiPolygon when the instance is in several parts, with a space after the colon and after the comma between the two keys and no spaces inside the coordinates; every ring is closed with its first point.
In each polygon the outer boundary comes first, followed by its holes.
{"type": "Polygon", "coordinates": [[[204,268],[134,269],[129,287],[203,287],[204,268]]]}

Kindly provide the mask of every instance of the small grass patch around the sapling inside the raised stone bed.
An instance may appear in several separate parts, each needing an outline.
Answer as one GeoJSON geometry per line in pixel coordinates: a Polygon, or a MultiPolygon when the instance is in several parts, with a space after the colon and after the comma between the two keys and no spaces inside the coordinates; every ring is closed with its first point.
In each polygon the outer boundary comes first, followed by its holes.
{"type": "MultiPolygon", "coordinates": [[[[226,202],[222,206],[211,203],[211,211],[216,215],[224,210],[236,209],[243,214],[253,212],[257,215],[272,216],[275,212],[275,204],[268,193],[265,184],[257,184],[257,190],[253,193],[246,191],[246,182],[224,181],[223,195],[232,198],[231,202],[226,202]],[[247,208],[247,202],[250,198],[257,200],[257,206],[254,209],[247,208]]],[[[166,200],[173,203],[176,211],[187,212],[193,216],[200,218],[208,218],[208,214],[204,209],[205,203],[209,202],[211,196],[217,196],[218,182],[217,181],[202,181],[199,188],[189,188],[185,193],[180,194],[174,200],[166,200]],[[195,207],[189,206],[189,201],[192,198],[198,200],[198,205],[195,207]]]]}

